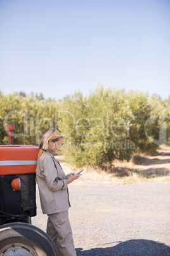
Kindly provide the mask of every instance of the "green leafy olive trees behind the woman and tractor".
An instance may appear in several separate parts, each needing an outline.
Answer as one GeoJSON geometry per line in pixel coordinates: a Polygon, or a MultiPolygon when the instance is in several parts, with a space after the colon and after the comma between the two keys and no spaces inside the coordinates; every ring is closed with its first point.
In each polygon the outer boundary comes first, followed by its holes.
{"type": "Polygon", "coordinates": [[[8,143],[5,127],[16,127],[14,143],[37,145],[44,132],[62,132],[62,153],[77,166],[102,166],[129,160],[134,152],[152,152],[170,137],[169,99],[143,92],[97,87],[83,97],[75,92],[60,101],[25,92],[0,92],[0,143],[8,143]],[[163,114],[162,114],[163,113],[163,114]],[[161,133],[162,132],[162,133],[161,133]],[[163,138],[160,141],[160,137],[163,138]]]}

